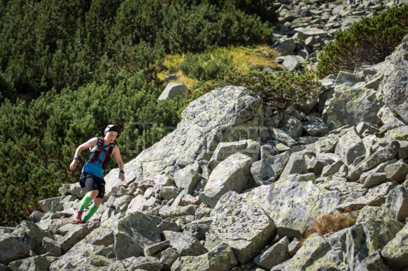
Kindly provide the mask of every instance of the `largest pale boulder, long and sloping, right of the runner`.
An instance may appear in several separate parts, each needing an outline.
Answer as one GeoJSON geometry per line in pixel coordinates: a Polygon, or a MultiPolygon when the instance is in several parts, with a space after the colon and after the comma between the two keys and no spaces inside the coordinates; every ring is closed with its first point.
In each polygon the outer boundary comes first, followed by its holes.
{"type": "MultiPolygon", "coordinates": [[[[176,130],[126,163],[125,184],[164,173],[169,166],[209,161],[219,142],[259,140],[262,124],[259,94],[245,87],[214,89],[185,108],[176,130]]],[[[106,193],[112,186],[124,184],[118,180],[117,169],[111,170],[105,180],[106,193]]]]}

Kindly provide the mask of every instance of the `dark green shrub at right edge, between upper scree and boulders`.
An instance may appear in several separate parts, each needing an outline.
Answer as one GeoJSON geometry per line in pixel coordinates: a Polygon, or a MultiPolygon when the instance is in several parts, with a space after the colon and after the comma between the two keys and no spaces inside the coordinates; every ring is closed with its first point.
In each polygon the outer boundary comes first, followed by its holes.
{"type": "Polygon", "coordinates": [[[356,66],[384,61],[408,34],[408,5],[393,7],[380,15],[363,17],[349,29],[337,32],[335,41],[323,47],[318,76],[354,71],[356,66]]]}

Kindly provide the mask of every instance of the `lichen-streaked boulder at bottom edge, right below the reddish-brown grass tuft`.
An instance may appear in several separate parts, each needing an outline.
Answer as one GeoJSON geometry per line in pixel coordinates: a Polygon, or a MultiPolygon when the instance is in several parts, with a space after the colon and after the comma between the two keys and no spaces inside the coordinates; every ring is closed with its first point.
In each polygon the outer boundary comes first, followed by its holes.
{"type": "Polygon", "coordinates": [[[314,233],[281,270],[360,270],[361,263],[393,240],[403,225],[370,219],[323,237],[314,233]]]}

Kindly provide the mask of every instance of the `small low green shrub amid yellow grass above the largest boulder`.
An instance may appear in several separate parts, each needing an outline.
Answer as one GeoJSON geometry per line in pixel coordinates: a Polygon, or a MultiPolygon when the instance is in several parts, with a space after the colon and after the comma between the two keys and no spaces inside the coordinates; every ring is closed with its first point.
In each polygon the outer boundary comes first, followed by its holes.
{"type": "Polygon", "coordinates": [[[181,71],[187,76],[200,81],[214,80],[220,73],[234,70],[232,57],[227,54],[213,57],[210,53],[187,54],[180,66],[181,71]]]}

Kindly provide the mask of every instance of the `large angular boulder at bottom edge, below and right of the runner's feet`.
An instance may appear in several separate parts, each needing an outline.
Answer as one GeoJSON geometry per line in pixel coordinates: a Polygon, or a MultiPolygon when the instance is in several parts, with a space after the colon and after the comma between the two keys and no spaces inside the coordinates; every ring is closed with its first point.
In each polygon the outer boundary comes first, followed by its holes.
{"type": "MultiPolygon", "coordinates": [[[[66,228],[68,230],[68,228],[66,228]]],[[[66,232],[65,236],[69,234],[66,232]]],[[[94,268],[110,265],[113,260],[101,256],[110,248],[116,260],[143,256],[143,249],[160,243],[156,221],[141,212],[118,214],[92,230],[63,256],[52,263],[50,270],[94,268]]]]}

